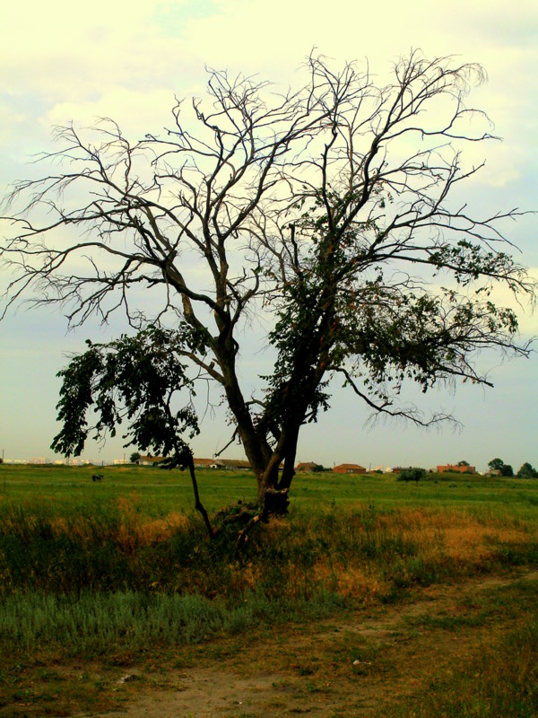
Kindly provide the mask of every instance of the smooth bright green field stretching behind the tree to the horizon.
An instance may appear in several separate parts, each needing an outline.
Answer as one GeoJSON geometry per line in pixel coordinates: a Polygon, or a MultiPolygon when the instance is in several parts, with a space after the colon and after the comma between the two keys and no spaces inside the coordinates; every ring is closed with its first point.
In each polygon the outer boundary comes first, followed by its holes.
{"type": "MultiPolygon", "coordinates": [[[[201,470],[200,494],[213,512],[238,499],[254,501],[256,481],[249,471],[201,470]]],[[[191,512],[192,487],[187,472],[152,467],[31,467],[0,465],[2,499],[52,502],[56,511],[71,511],[85,503],[105,503],[136,493],[137,511],[160,516],[170,511],[191,512]],[[100,484],[91,474],[104,475],[100,484]]],[[[418,484],[396,481],[394,475],[345,476],[332,473],[298,475],[291,486],[291,502],[317,512],[324,507],[373,503],[380,507],[435,506],[471,512],[533,515],[538,505],[538,480],[429,474],[418,484]]]]}

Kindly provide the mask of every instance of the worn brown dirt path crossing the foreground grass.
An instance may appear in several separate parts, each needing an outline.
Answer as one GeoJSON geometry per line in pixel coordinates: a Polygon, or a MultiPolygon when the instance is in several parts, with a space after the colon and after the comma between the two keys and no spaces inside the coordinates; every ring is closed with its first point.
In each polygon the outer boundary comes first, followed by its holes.
{"type": "Polygon", "coordinates": [[[480,650],[487,621],[456,632],[431,626],[479,615],[487,590],[520,578],[538,580],[538,572],[435,586],[404,606],[222,639],[179,654],[180,668],[132,667],[118,679],[124,707],[100,718],[366,715],[387,696],[411,694],[430,680],[433,666],[449,673],[480,650]]]}

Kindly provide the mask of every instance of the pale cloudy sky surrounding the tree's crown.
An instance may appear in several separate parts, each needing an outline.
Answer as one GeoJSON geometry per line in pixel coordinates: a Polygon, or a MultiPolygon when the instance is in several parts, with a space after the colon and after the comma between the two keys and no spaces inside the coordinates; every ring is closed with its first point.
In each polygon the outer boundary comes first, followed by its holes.
{"type": "MultiPolygon", "coordinates": [[[[0,191],[35,171],[32,154],[52,148],[51,127],[73,120],[115,118],[127,135],[158,132],[169,121],[174,96],[203,91],[205,66],[259,74],[298,84],[312,48],[335,62],[365,61],[386,76],[398,57],[421,48],[426,57],[456,55],[478,62],[488,82],[471,103],[487,111],[502,143],[481,145],[486,171],[470,190],[481,213],[519,206],[537,209],[538,6],[532,0],[455,0],[433,4],[387,0],[382,5],[333,0],[169,0],[144,3],[28,0],[3,9],[0,24],[0,191]]],[[[477,159],[481,159],[477,157],[477,159]]],[[[510,227],[519,261],[538,276],[536,216],[510,227]]],[[[0,286],[8,276],[1,270],[0,286]]],[[[522,311],[522,341],[538,335],[536,314],[522,311]]],[[[83,340],[111,338],[97,323],[67,333],[61,311],[11,311],[0,322],[0,455],[4,459],[55,459],[49,445],[58,430],[56,372],[83,340]]],[[[332,410],[308,425],[298,460],[325,466],[437,464],[467,460],[478,470],[500,457],[518,468],[538,466],[538,356],[514,362],[487,356],[492,390],[464,385],[438,390],[428,407],[454,413],[461,427],[426,432],[377,422],[342,390],[332,410]]],[[[419,401],[422,398],[419,396],[419,401]]],[[[212,456],[229,439],[217,412],[204,417],[195,454],[212,456]]],[[[88,445],[95,461],[121,459],[119,440],[88,445]]],[[[232,446],[226,456],[241,456],[232,446]]]]}

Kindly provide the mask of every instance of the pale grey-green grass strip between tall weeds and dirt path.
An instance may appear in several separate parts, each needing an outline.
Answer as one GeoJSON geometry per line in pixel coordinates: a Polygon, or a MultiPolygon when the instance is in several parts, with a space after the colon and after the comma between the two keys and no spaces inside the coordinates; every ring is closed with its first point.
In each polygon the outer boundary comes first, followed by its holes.
{"type": "Polygon", "coordinates": [[[80,595],[14,592],[0,606],[0,635],[25,655],[40,646],[65,656],[95,656],[198,643],[234,635],[260,624],[313,620],[334,614],[343,600],[327,591],[306,598],[272,600],[249,592],[240,601],[200,595],[145,594],[139,591],[80,595]]]}

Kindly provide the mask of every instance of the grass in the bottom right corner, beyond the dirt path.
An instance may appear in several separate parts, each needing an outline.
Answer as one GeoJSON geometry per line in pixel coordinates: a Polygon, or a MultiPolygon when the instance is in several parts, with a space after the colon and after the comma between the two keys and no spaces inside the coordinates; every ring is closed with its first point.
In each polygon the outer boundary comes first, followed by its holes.
{"type": "MultiPolygon", "coordinates": [[[[447,622],[443,617],[415,621],[422,630],[460,631],[476,626],[486,633],[473,657],[457,665],[433,667],[428,687],[376,711],[370,718],[535,718],[538,715],[537,582],[489,591],[475,614],[447,622]],[[466,618],[466,620],[465,620],[466,618]]],[[[446,617],[445,617],[446,618],[446,617]]]]}

